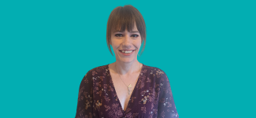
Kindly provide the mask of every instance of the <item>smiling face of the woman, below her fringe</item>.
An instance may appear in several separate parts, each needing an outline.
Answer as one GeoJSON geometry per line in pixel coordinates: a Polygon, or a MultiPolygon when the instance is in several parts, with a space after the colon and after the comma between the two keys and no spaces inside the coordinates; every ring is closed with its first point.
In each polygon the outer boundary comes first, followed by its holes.
{"type": "Polygon", "coordinates": [[[136,26],[131,32],[116,31],[111,35],[111,46],[116,55],[116,60],[124,63],[137,60],[141,46],[141,36],[136,26]]]}

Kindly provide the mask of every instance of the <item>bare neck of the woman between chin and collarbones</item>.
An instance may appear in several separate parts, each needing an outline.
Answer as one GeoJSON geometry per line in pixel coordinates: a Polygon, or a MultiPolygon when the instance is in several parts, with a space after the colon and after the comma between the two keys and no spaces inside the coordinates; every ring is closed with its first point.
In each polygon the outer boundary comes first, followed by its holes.
{"type": "Polygon", "coordinates": [[[131,75],[134,72],[140,72],[140,63],[139,61],[132,61],[131,63],[123,63],[120,61],[116,61],[114,63],[117,72],[120,75],[131,75]]]}

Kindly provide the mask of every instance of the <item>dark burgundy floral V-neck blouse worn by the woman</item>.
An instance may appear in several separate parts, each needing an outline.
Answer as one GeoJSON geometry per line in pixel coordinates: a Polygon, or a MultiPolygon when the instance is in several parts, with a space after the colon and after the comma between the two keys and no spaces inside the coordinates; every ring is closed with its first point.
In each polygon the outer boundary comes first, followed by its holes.
{"type": "Polygon", "coordinates": [[[178,118],[169,79],[159,68],[143,65],[124,111],[109,66],[91,69],[80,83],[76,118],[178,118]]]}

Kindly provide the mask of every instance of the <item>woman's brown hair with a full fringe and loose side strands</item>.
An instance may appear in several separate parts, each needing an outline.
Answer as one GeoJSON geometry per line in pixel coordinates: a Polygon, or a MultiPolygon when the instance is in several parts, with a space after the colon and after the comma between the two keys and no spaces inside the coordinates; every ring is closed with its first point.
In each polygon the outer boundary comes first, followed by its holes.
{"type": "Polygon", "coordinates": [[[143,43],[143,49],[140,51],[139,56],[143,53],[143,50],[146,46],[146,24],[139,10],[131,5],[127,6],[117,6],[109,15],[109,20],[106,27],[106,42],[109,48],[110,53],[113,55],[110,42],[111,42],[111,34],[114,31],[132,31],[134,24],[141,35],[141,43],[143,43]]]}

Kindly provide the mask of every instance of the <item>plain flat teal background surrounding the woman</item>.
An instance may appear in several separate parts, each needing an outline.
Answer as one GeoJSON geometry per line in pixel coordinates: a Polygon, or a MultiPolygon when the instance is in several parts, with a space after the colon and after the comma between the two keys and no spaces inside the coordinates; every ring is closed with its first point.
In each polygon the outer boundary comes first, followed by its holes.
{"type": "Polygon", "coordinates": [[[255,117],[255,1],[1,1],[0,117],[75,117],[91,68],[115,61],[106,23],[132,5],[138,60],[169,77],[180,118],[255,117]]]}

